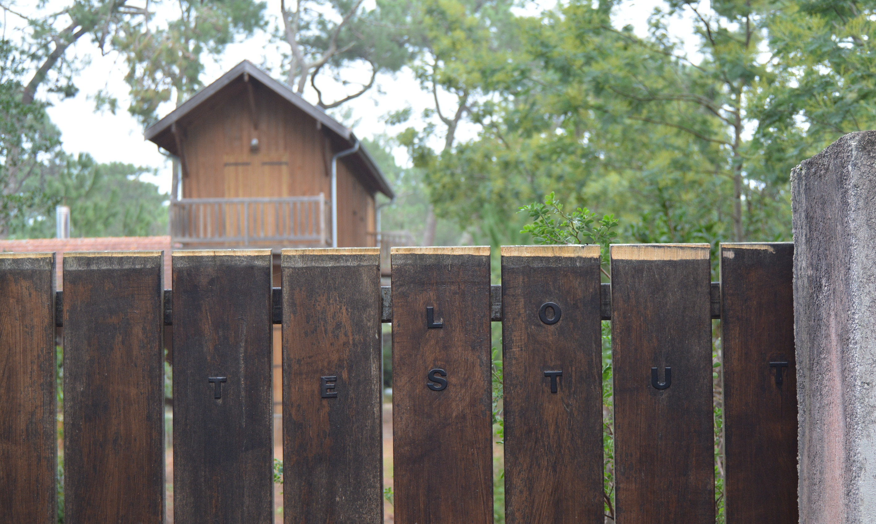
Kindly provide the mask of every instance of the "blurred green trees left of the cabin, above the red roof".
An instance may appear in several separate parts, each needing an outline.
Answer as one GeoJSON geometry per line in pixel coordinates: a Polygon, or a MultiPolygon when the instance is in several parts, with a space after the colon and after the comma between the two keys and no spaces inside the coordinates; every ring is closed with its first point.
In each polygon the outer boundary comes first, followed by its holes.
{"type": "MultiPolygon", "coordinates": [[[[49,199],[70,206],[71,236],[167,234],[167,196],[139,179],[152,170],[131,164],[98,164],[87,154],[68,157],[56,172],[34,179],[49,199]]],[[[18,238],[52,237],[54,212],[30,213],[12,229],[18,238]]]]}

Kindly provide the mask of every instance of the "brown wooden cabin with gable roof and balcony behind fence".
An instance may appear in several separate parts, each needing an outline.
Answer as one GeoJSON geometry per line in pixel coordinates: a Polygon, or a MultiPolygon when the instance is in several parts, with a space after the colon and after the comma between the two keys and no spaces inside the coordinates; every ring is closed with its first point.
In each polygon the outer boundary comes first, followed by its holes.
{"type": "Polygon", "coordinates": [[[389,184],[351,129],[244,60],[145,130],[177,160],[171,236],[183,248],[377,245],[389,184]],[[357,145],[359,147],[357,148],[357,145]],[[332,157],[337,239],[332,239],[332,157]]]}

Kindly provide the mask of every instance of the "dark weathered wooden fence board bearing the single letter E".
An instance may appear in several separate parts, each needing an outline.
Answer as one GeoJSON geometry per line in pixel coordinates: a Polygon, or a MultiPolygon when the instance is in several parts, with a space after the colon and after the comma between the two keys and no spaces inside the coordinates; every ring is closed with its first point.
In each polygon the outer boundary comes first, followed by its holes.
{"type": "Polygon", "coordinates": [[[287,524],[383,522],[379,263],[378,248],[283,250],[287,524]]]}

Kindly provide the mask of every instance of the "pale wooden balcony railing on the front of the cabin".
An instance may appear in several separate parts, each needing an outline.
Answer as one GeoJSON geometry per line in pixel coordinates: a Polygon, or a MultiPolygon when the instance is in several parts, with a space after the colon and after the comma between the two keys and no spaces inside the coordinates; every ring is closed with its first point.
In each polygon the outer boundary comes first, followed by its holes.
{"type": "Polygon", "coordinates": [[[180,199],[171,202],[171,235],[183,244],[330,245],[330,205],[313,197],[180,199]]]}

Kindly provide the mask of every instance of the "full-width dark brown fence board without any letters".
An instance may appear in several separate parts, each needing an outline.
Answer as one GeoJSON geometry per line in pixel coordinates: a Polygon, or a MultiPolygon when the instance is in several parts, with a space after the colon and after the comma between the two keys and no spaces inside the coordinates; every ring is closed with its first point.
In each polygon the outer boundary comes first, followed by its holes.
{"type": "Polygon", "coordinates": [[[67,524],[164,521],[162,252],[64,255],[67,524]]]}

